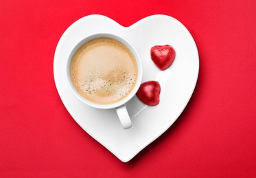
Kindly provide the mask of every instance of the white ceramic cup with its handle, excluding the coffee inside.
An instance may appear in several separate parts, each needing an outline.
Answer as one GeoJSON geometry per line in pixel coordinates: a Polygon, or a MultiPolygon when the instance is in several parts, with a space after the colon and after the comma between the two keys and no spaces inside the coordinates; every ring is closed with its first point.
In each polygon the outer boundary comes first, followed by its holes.
{"type": "Polygon", "coordinates": [[[132,127],[132,122],[130,120],[128,111],[126,109],[126,103],[130,99],[132,99],[132,97],[135,96],[137,90],[139,90],[139,86],[141,85],[141,79],[142,79],[142,64],[141,64],[141,59],[139,57],[139,54],[137,53],[135,47],[133,47],[132,44],[130,44],[130,42],[128,42],[128,40],[126,40],[123,37],[118,36],[116,34],[108,34],[108,33],[91,34],[89,36],[85,36],[85,38],[82,39],[80,42],[78,42],[78,44],[75,44],[75,46],[71,50],[71,53],[68,56],[68,60],[67,60],[67,64],[66,64],[66,78],[67,78],[67,83],[69,85],[69,88],[71,89],[71,91],[73,92],[75,97],[80,99],[80,101],[82,101],[82,103],[89,105],[91,107],[98,108],[98,109],[115,109],[117,112],[117,115],[119,117],[119,120],[121,122],[122,127],[124,127],[124,129],[128,129],[128,128],[132,127]],[[122,44],[124,44],[130,50],[130,52],[132,53],[132,55],[135,58],[135,61],[137,62],[138,75],[137,75],[137,81],[136,81],[135,87],[124,99],[122,99],[121,101],[117,101],[116,103],[111,103],[111,104],[97,104],[97,103],[93,103],[91,101],[84,99],[84,97],[82,97],[78,93],[78,91],[75,90],[75,88],[72,84],[72,81],[71,81],[71,77],[70,77],[70,64],[71,64],[71,59],[72,59],[75,51],[77,51],[82,46],[82,44],[88,42],[89,40],[93,40],[95,38],[102,38],[102,37],[113,38],[114,40],[117,40],[117,41],[121,42],[122,44]]]}

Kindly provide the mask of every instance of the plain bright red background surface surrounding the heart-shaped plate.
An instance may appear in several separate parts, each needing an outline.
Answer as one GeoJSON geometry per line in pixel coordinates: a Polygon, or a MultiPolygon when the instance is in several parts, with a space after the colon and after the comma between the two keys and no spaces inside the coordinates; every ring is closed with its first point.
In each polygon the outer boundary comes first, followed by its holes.
{"type": "Polygon", "coordinates": [[[1,0],[0,177],[256,177],[255,9],[255,0],[1,0]],[[167,14],[198,47],[183,114],[128,163],[75,123],[54,84],[58,40],[89,14],[124,26],[167,14]]]}

